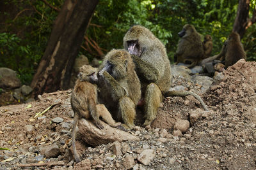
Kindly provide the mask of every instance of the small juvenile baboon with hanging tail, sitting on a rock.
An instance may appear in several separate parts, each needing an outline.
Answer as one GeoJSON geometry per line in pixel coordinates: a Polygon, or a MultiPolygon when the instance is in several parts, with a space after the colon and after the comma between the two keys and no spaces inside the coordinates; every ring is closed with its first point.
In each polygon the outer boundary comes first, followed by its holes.
{"type": "Polygon", "coordinates": [[[116,123],[115,120],[113,120],[111,114],[104,108],[103,104],[97,104],[97,86],[90,83],[97,81],[97,69],[92,66],[84,65],[80,68],[80,71],[81,73],[78,74],[78,79],[70,100],[72,110],[75,113],[72,129],[72,147],[76,162],[80,162],[76,152],[76,127],[81,118],[85,118],[86,120],[93,118],[95,125],[99,129],[103,128],[99,117],[102,117],[105,122],[113,127],[120,125],[120,123],[116,123]]]}

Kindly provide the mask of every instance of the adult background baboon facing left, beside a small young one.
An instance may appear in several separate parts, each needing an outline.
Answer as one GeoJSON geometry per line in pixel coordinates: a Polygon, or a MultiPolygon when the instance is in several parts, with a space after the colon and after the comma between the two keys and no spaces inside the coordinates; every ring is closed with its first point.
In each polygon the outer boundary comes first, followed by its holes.
{"type": "Polygon", "coordinates": [[[204,59],[204,47],[200,34],[196,32],[193,25],[186,24],[178,35],[180,40],[174,56],[177,59],[176,63],[190,64],[189,68],[196,66],[200,60],[204,59]]]}

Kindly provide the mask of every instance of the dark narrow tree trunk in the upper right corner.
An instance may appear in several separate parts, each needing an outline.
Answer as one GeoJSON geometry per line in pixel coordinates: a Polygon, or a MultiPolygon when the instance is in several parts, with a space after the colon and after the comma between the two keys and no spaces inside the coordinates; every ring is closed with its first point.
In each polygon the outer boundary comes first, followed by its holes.
{"type": "Polygon", "coordinates": [[[248,25],[250,0],[239,0],[236,20],[233,25],[233,31],[237,32],[242,39],[248,25]]]}

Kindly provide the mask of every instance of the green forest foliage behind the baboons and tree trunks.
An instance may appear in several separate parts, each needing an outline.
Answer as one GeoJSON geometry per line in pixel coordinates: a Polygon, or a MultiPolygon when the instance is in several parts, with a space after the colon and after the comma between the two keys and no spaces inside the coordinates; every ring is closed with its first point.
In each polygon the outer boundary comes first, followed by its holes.
{"type": "MultiPolygon", "coordinates": [[[[237,0],[102,0],[96,6],[84,33],[79,55],[90,61],[102,59],[112,48],[123,48],[123,37],[132,25],[143,25],[159,38],[173,62],[179,36],[185,24],[193,24],[213,41],[212,55],[233,29],[237,0]]],[[[0,1],[0,67],[17,71],[29,85],[44,55],[52,25],[64,0],[0,1]]],[[[255,15],[256,1],[250,1],[249,17],[255,15]]],[[[241,39],[247,60],[256,60],[256,24],[246,27],[241,39]]]]}

